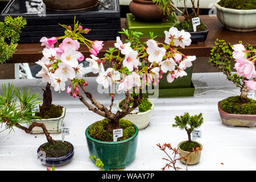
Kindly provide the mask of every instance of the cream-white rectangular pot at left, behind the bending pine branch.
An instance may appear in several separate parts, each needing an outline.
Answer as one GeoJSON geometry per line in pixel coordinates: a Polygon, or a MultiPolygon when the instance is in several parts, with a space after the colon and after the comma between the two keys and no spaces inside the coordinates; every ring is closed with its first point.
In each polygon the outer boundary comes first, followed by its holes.
{"type": "MultiPolygon", "coordinates": [[[[46,125],[46,129],[47,129],[48,133],[51,133],[51,134],[61,133],[61,126],[63,126],[63,119],[65,117],[65,113],[66,113],[66,109],[65,109],[65,107],[63,107],[63,112],[59,118],[35,119],[34,122],[44,123],[44,125],[46,125]]],[[[30,124],[27,124],[27,126],[29,127],[30,124]]],[[[44,132],[41,127],[36,126],[36,127],[34,127],[34,129],[32,129],[31,133],[32,134],[42,134],[44,132]]]]}

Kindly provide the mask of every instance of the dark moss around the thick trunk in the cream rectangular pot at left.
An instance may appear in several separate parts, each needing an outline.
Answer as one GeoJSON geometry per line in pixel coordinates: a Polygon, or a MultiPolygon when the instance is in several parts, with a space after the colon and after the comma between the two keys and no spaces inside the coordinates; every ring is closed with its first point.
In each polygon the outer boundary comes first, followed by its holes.
{"type": "Polygon", "coordinates": [[[42,110],[42,106],[39,106],[39,113],[35,115],[41,117],[42,119],[50,119],[50,118],[59,118],[63,113],[63,106],[51,105],[49,110],[42,110]]]}

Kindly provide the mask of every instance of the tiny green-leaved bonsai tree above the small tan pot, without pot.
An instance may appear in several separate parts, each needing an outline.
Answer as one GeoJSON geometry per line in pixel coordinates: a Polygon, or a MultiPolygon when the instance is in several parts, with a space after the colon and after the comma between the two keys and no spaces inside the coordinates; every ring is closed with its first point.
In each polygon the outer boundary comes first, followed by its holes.
{"type": "Polygon", "coordinates": [[[203,122],[204,122],[204,118],[202,113],[200,113],[199,115],[192,115],[192,116],[190,116],[189,113],[185,113],[180,117],[179,116],[175,117],[175,124],[173,124],[172,127],[179,127],[181,130],[187,131],[188,142],[192,143],[192,140],[191,140],[192,131],[200,127],[203,122]]]}

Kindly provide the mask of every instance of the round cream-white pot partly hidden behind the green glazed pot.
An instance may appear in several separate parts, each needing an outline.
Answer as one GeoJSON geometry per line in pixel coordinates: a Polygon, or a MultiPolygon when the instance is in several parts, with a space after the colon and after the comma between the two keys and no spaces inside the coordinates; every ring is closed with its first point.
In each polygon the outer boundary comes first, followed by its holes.
{"type": "MultiPolygon", "coordinates": [[[[120,101],[121,102],[121,101],[120,101]]],[[[139,130],[142,130],[148,126],[150,123],[150,118],[152,115],[152,112],[154,110],[154,104],[151,102],[152,106],[151,109],[144,112],[144,113],[137,113],[137,114],[128,114],[123,119],[127,119],[134,123],[138,127],[139,130]]],[[[122,111],[119,107],[119,102],[117,104],[117,109],[119,111],[122,111]]]]}

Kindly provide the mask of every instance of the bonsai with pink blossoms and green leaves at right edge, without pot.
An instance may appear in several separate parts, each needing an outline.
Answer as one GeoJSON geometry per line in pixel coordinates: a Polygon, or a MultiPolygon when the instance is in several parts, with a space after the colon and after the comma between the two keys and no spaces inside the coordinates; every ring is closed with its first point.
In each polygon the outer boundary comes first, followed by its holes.
{"type": "Polygon", "coordinates": [[[211,50],[209,62],[240,88],[242,104],[250,102],[247,98],[249,90],[256,91],[256,49],[249,44],[243,46],[241,42],[232,46],[230,43],[227,44],[224,40],[218,39],[215,44],[216,47],[211,50]],[[231,61],[235,61],[234,69],[237,73],[232,73],[231,61]]]}

